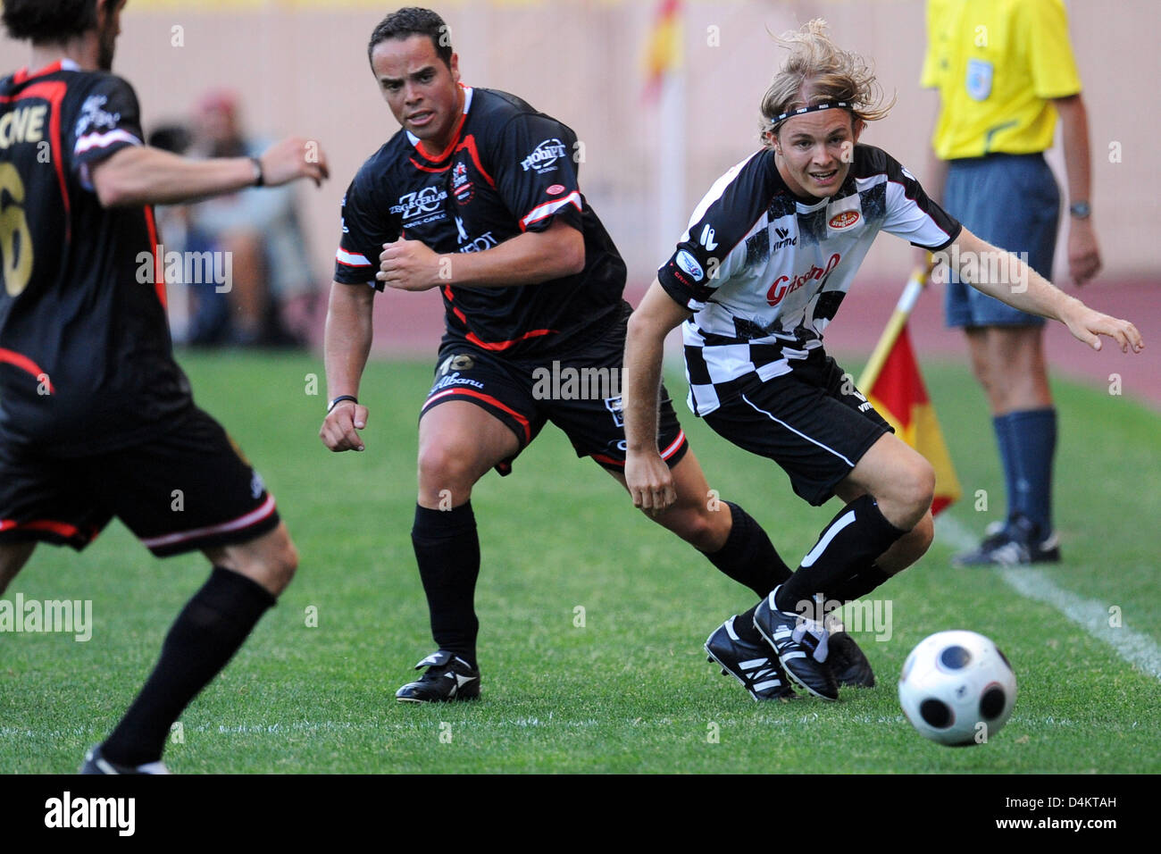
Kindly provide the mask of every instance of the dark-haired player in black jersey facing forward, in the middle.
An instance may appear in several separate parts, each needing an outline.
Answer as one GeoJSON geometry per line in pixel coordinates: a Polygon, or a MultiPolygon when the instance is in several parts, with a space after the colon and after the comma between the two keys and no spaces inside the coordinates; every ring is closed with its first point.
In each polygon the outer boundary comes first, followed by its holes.
{"type": "MultiPolygon", "coordinates": [[[[427,668],[423,677],[399,689],[403,702],[479,696],[475,482],[493,467],[506,474],[549,421],[578,457],[625,480],[619,389],[590,382],[590,394],[569,399],[535,380],[551,371],[619,379],[621,367],[626,271],[577,184],[576,136],[519,98],[460,84],[446,33],[435,13],[406,8],[372,36],[372,70],[402,129],[347,191],[326,322],[331,403],[320,437],[332,451],[362,451],[367,408],[356,395],[375,292],[438,287],[447,310],[419,422],[412,529],[439,650],[417,666],[427,668]]],[[[741,508],[709,509],[664,389],[661,407],[651,442],[672,469],[677,501],[654,519],[765,595],[788,568],[741,508]]],[[[843,677],[870,679],[857,647],[850,654],[843,677]]],[[[755,698],[785,696],[780,675],[752,659],[733,655],[723,666],[755,698]]]]}

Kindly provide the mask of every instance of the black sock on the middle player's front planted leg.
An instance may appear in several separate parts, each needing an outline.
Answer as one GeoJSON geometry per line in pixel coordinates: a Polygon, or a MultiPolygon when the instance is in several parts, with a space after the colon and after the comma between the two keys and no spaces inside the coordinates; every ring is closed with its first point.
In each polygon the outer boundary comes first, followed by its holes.
{"type": "Polygon", "coordinates": [[[416,505],[411,544],[427,594],[437,646],[475,667],[479,620],[474,603],[479,576],[479,536],[471,502],[450,510],[416,505]]]}

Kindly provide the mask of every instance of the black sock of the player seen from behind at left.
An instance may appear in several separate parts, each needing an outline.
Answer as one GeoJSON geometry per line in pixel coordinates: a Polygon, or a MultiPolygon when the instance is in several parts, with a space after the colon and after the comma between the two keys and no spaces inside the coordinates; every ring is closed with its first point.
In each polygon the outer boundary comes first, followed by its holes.
{"type": "Polygon", "coordinates": [[[101,746],[115,765],[161,759],[170,727],[241,646],[274,596],[240,573],[214,567],[161,645],[161,658],[113,734],[101,746]]]}

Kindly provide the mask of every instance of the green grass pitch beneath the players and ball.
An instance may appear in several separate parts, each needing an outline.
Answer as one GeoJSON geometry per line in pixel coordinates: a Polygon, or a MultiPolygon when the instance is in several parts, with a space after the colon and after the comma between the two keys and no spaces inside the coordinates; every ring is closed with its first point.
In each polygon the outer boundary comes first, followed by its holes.
{"type": "MultiPolygon", "coordinates": [[[[954,570],[938,541],[880,591],[889,641],[856,634],[879,675],[842,702],[753,703],[701,644],[751,594],[636,514],[598,466],[548,428],[506,479],[473,497],[484,562],[477,594],[484,699],[399,705],[396,688],[432,651],[411,552],[416,412],[430,366],[373,363],[367,452],[317,439],[322,364],[298,356],[185,356],[200,404],[225,423],[279,498],[298,576],[224,674],[181,719],[178,773],[1084,773],[1161,770],[1161,683],[991,570],[954,570]],[[317,627],[308,609],[317,609],[317,627]],[[584,626],[578,611],[584,609],[584,626]],[[943,629],[994,638],[1019,699],[988,745],[953,751],[904,720],[895,681],[908,651],[943,629]],[[716,739],[713,734],[716,733],[716,739]],[[767,762],[762,758],[769,758],[767,762]]],[[[850,367],[853,367],[850,366],[850,367]]],[[[928,365],[929,390],[968,496],[950,512],[973,531],[1003,507],[990,422],[966,371],[928,365]]],[[[684,382],[671,378],[676,395],[684,382]]],[[[1122,609],[1161,640],[1156,532],[1161,416],[1067,382],[1058,523],[1066,591],[1122,609]]],[[[679,408],[711,486],[743,504],[791,564],[837,504],[812,509],[773,464],[679,408]]],[[[154,560],[114,523],[82,555],[41,547],[6,597],[93,601],[88,643],[0,636],[0,772],[70,773],[115,724],[152,666],[201,555],[154,560]]]]}

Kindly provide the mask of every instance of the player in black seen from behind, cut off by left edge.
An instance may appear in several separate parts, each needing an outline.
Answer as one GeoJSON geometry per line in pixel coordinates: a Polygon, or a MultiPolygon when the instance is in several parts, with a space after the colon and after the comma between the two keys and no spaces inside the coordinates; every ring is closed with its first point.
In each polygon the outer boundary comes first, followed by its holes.
{"type": "Polygon", "coordinates": [[[297,565],[274,497],[173,360],[151,206],[326,177],[305,139],[253,160],[143,145],[137,96],[109,73],[123,7],[5,0],[33,62],[0,81],[0,591],[36,543],[80,551],[114,516],[157,555],[214,565],[93,774],[165,773],[170,726],[297,565]]]}

